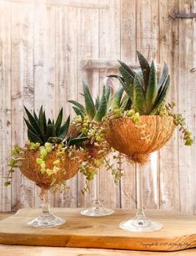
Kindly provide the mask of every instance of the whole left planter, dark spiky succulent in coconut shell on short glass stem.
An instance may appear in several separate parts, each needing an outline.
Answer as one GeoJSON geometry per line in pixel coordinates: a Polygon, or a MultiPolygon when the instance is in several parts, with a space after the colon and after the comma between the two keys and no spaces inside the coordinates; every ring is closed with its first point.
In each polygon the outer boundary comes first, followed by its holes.
{"type": "Polygon", "coordinates": [[[46,119],[43,107],[38,115],[31,114],[26,108],[28,119],[24,118],[28,127],[28,140],[24,147],[16,145],[12,152],[8,181],[12,178],[15,167],[29,180],[41,188],[43,213],[40,217],[28,222],[34,228],[51,228],[65,223],[50,211],[49,189],[66,186],[66,181],[74,177],[83,162],[85,151],[82,148],[86,136],[67,136],[70,117],[63,125],[63,109],[60,110],[56,121],[46,119]]]}

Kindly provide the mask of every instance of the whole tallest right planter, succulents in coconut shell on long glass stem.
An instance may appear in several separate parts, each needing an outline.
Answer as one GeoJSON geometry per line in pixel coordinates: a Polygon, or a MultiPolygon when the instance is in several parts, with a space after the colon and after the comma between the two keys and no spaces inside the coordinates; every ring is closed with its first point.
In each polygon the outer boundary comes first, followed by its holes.
{"type": "MultiPolygon", "coordinates": [[[[119,61],[121,75],[110,75],[118,79],[121,86],[114,108],[104,118],[103,125],[108,144],[131,163],[143,165],[151,152],[159,150],[172,137],[176,125],[183,132],[185,145],[192,145],[193,140],[182,115],[173,113],[174,104],[166,104],[170,84],[167,64],[160,75],[153,61],[148,64],[142,54],[137,54],[141,71],[136,73],[119,61]]],[[[148,219],[143,212],[141,168],[137,168],[136,182],[138,211],[133,219],[120,223],[120,227],[132,232],[159,230],[162,223],[148,219]]]]}

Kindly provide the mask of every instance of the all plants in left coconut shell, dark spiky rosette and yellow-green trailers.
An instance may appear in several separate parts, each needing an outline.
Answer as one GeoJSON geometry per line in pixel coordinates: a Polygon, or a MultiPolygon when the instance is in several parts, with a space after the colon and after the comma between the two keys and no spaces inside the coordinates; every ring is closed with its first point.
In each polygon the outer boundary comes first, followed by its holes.
{"type": "MultiPolygon", "coordinates": [[[[38,115],[35,113],[35,111],[33,111],[32,115],[26,107],[24,107],[24,109],[28,115],[28,119],[24,117],[24,120],[28,127],[29,141],[26,141],[24,147],[18,145],[14,146],[11,153],[12,157],[8,164],[9,170],[8,177],[6,177],[7,182],[5,182],[5,186],[11,184],[14,169],[21,167],[21,161],[26,158],[24,155],[27,150],[28,153],[31,151],[31,154],[28,155],[28,158],[30,157],[28,161],[36,161],[40,166],[40,172],[42,174],[46,172],[48,173],[48,176],[50,176],[60,170],[58,164],[60,161],[62,161],[65,152],[67,152],[68,156],[72,158],[75,151],[83,151],[83,148],[80,147],[81,143],[88,139],[88,137],[83,136],[82,133],[79,133],[77,137],[68,136],[70,116],[68,116],[68,119],[62,125],[63,108],[59,111],[57,120],[47,120],[43,106],[41,106],[38,115]],[[37,151],[39,151],[39,156],[35,158],[33,153],[36,153],[37,151]],[[53,161],[53,167],[47,168],[47,157],[48,154],[52,153],[52,151],[54,151],[56,159],[53,161]]],[[[53,178],[53,181],[55,182],[55,177],[53,178]]]]}

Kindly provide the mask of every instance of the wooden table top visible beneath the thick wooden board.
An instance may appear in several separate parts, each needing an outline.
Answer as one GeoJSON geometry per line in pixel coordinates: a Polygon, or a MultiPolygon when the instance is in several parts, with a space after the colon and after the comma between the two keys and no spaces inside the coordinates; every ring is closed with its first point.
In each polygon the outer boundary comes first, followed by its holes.
{"type": "MultiPolygon", "coordinates": [[[[0,212],[0,220],[12,216],[11,212],[0,212]]],[[[186,249],[175,252],[146,252],[135,250],[99,249],[99,248],[64,248],[64,247],[43,247],[43,246],[24,246],[24,245],[3,245],[0,244],[0,256],[128,256],[128,255],[152,255],[152,256],[183,256],[196,255],[196,248],[186,249]]]]}

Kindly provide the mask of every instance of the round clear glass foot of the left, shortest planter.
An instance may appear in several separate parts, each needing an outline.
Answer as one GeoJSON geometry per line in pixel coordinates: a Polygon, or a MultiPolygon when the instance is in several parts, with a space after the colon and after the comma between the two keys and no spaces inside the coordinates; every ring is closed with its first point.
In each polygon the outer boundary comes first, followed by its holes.
{"type": "Polygon", "coordinates": [[[28,222],[28,226],[33,228],[53,228],[62,225],[65,222],[66,221],[63,218],[59,218],[51,213],[34,218],[28,222]]]}

